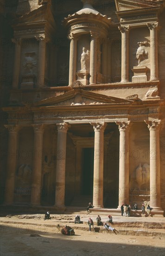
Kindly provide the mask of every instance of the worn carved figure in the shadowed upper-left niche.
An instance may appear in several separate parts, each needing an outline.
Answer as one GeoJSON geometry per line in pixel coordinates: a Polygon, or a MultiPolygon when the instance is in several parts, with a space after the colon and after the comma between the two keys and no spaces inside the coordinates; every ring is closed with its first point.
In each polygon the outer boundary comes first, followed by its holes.
{"type": "Polygon", "coordinates": [[[37,66],[37,61],[35,61],[35,53],[25,53],[25,61],[23,67],[26,74],[33,74],[34,67],[37,66]]]}

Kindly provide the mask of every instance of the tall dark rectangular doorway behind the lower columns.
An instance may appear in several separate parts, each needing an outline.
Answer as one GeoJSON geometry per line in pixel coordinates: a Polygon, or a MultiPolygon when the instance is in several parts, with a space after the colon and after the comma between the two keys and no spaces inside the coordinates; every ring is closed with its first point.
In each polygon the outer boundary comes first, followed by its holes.
{"type": "Polygon", "coordinates": [[[94,148],[83,148],[82,194],[93,195],[94,148]]]}

